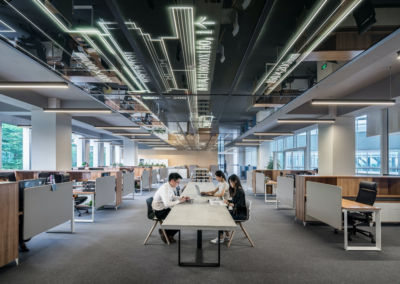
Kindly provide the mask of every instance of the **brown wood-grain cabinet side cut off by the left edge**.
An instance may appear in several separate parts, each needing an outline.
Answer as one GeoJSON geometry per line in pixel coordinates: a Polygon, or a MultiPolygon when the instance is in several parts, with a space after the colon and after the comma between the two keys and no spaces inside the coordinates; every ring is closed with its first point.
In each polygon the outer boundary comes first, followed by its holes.
{"type": "Polygon", "coordinates": [[[0,183],[0,267],[18,265],[18,183],[0,183]]]}

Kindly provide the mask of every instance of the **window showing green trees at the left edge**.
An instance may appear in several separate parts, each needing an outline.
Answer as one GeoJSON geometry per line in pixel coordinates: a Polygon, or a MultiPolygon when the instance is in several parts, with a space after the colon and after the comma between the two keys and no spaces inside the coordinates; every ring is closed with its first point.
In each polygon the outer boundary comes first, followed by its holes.
{"type": "Polygon", "coordinates": [[[2,169],[22,170],[23,168],[23,134],[22,128],[2,124],[2,169]]]}

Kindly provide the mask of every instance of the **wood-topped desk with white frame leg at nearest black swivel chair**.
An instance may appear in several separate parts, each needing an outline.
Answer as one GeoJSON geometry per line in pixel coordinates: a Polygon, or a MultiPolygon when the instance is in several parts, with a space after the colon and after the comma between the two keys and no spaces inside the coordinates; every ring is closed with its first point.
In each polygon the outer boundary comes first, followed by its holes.
{"type": "Polygon", "coordinates": [[[344,249],[345,250],[377,250],[382,249],[381,208],[370,206],[347,199],[342,199],[342,212],[344,219],[344,249]],[[375,213],[375,247],[371,246],[349,246],[348,245],[348,212],[374,212],[375,213]]]}

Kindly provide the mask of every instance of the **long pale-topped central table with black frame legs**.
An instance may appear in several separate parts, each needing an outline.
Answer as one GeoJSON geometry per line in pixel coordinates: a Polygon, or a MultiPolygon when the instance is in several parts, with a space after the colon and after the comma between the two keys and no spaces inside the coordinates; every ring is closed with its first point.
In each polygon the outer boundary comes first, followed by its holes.
{"type": "Polygon", "coordinates": [[[182,263],[180,261],[181,232],[180,230],[197,230],[197,249],[196,256],[202,258],[202,231],[234,231],[236,223],[225,206],[212,206],[208,203],[208,199],[215,198],[212,196],[202,197],[197,194],[195,185],[198,185],[200,191],[210,191],[214,189],[212,183],[195,183],[190,182],[182,196],[189,196],[193,200],[193,204],[183,203],[174,206],[167,218],[162,224],[162,228],[166,230],[179,230],[178,239],[178,264],[179,266],[202,266],[202,267],[219,267],[220,266],[220,244],[218,244],[218,262],[203,263],[196,259],[196,262],[182,263]]]}

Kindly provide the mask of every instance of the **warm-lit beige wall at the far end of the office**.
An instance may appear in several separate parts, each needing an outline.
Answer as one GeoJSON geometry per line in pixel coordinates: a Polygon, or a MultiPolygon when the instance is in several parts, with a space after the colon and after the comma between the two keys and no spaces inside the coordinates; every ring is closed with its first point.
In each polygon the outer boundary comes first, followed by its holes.
{"type": "Polygon", "coordinates": [[[168,159],[169,167],[197,165],[210,168],[218,165],[217,151],[139,150],[139,159],[168,159]]]}

